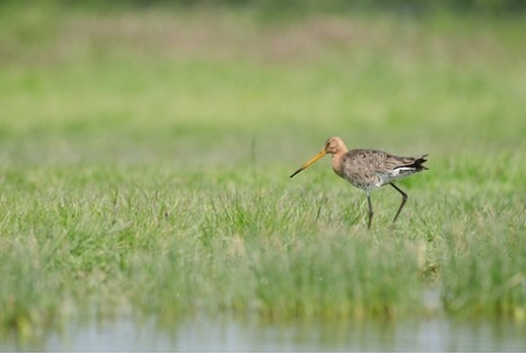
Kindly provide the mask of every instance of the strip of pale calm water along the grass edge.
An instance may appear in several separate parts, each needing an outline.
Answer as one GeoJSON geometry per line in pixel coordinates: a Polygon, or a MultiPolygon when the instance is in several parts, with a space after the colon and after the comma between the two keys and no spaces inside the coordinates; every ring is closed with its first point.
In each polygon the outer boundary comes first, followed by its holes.
{"type": "Polygon", "coordinates": [[[185,320],[159,327],[132,320],[71,326],[40,343],[0,343],[40,352],[524,352],[526,324],[444,318],[363,324],[185,320]]]}

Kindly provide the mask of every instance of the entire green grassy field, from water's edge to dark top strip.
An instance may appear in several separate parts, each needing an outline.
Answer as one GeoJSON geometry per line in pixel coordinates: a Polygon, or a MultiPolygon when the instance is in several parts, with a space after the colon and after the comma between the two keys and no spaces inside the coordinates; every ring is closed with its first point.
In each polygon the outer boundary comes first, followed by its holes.
{"type": "Polygon", "coordinates": [[[127,312],[524,321],[524,21],[18,10],[0,11],[2,333],[127,312]],[[334,134],[429,153],[396,227],[394,190],[367,232],[328,161],[287,178],[334,134]]]}

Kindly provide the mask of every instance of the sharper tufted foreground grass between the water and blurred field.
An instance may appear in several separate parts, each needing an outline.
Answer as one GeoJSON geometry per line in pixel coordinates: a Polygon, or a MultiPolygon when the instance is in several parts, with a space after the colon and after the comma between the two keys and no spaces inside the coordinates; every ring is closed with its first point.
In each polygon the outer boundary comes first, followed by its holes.
{"type": "Polygon", "coordinates": [[[2,198],[4,325],[61,322],[79,306],[164,320],[200,311],[523,315],[524,204],[488,185],[482,196],[446,198],[413,185],[394,230],[397,195],[375,198],[367,233],[358,195],[340,198],[331,182],[160,165],[75,170],[3,181],[17,190],[2,198]],[[441,306],[423,299],[433,287],[441,306]]]}

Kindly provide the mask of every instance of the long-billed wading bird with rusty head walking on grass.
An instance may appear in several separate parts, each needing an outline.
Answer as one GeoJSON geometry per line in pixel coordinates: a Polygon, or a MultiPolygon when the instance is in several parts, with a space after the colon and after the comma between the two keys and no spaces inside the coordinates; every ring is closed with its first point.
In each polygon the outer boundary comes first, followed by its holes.
{"type": "Polygon", "coordinates": [[[426,158],[428,154],[409,158],[397,156],[374,149],[348,150],[341,138],[332,136],[327,139],[320,153],[297,169],[290,175],[290,178],[292,179],[326,154],[332,154],[332,168],[338,176],[350,182],[352,185],[364,190],[367,194],[367,230],[371,229],[374,215],[373,204],[371,203],[372,190],[390,184],[402,194],[402,203],[393,219],[393,223],[395,223],[396,219],[398,219],[399,212],[407,202],[408,196],[404,191],[396,186],[396,184],[394,184],[394,181],[428,170],[424,165],[424,163],[427,162],[426,158]]]}

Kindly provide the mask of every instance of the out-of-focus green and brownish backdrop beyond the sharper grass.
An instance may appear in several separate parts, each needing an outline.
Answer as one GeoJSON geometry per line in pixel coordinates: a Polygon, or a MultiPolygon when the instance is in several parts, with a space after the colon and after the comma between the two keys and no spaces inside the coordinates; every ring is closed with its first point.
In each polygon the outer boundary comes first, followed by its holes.
{"type": "Polygon", "coordinates": [[[185,161],[201,136],[275,161],[334,134],[399,153],[523,141],[522,2],[279,3],[2,2],[6,149],[185,161]]]}

